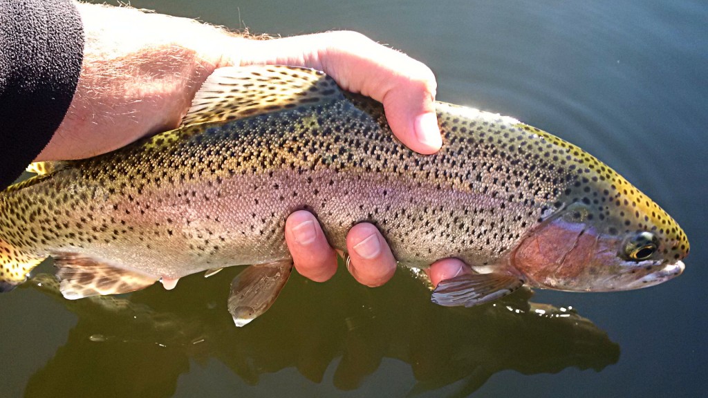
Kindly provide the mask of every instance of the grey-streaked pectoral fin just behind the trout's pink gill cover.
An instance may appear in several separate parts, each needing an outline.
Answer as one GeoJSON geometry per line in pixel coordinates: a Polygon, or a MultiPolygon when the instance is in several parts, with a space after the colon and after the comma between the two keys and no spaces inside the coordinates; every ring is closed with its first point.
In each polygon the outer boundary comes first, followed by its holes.
{"type": "Polygon", "coordinates": [[[524,284],[523,280],[498,273],[459,275],[442,280],[433,290],[432,301],[445,307],[473,307],[508,295],[524,284]]]}

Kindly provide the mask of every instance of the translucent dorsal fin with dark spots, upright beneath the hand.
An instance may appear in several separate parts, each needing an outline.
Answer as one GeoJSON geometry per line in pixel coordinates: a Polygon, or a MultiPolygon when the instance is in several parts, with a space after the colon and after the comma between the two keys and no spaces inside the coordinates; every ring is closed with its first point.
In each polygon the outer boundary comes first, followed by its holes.
{"type": "Polygon", "coordinates": [[[248,118],[343,98],[334,80],[315,69],[249,65],[215,70],[192,101],[182,125],[248,118]]]}

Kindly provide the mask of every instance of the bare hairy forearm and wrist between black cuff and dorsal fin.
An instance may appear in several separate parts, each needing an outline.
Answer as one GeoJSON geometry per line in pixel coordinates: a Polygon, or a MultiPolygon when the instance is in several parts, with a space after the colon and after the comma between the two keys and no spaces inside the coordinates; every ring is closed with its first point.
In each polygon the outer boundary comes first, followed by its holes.
{"type": "Polygon", "coordinates": [[[85,37],[79,85],[38,160],[91,157],[176,127],[202,81],[216,67],[239,62],[239,43],[246,40],[136,8],[77,8],[85,37]]]}

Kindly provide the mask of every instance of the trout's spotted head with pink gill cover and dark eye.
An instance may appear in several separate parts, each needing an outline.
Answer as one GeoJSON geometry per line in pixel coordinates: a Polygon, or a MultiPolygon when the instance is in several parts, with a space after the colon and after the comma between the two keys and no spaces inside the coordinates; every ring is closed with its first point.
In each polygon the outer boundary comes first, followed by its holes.
{"type": "Polygon", "coordinates": [[[566,186],[511,256],[527,283],[603,292],[680,275],[689,244],[673,218],[598,159],[563,143],[572,155],[564,164],[566,186]]]}

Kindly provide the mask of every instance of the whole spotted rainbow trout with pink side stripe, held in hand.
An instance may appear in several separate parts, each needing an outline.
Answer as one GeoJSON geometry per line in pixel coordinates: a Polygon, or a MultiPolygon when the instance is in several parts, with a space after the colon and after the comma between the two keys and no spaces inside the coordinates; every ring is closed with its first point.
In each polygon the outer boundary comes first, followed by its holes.
{"type": "Polygon", "coordinates": [[[437,103],[437,154],[406,149],[382,106],[297,67],[212,74],[183,125],[91,159],[39,164],[0,194],[0,286],[47,256],[64,297],[166,288],[251,265],[232,283],[237,325],[268,308],[292,259],[284,225],[318,217],[332,246],[372,222],[399,263],[457,257],[440,305],[477,305],[521,285],[614,291],[679,275],[676,222],[582,149],[513,118],[437,103]]]}

